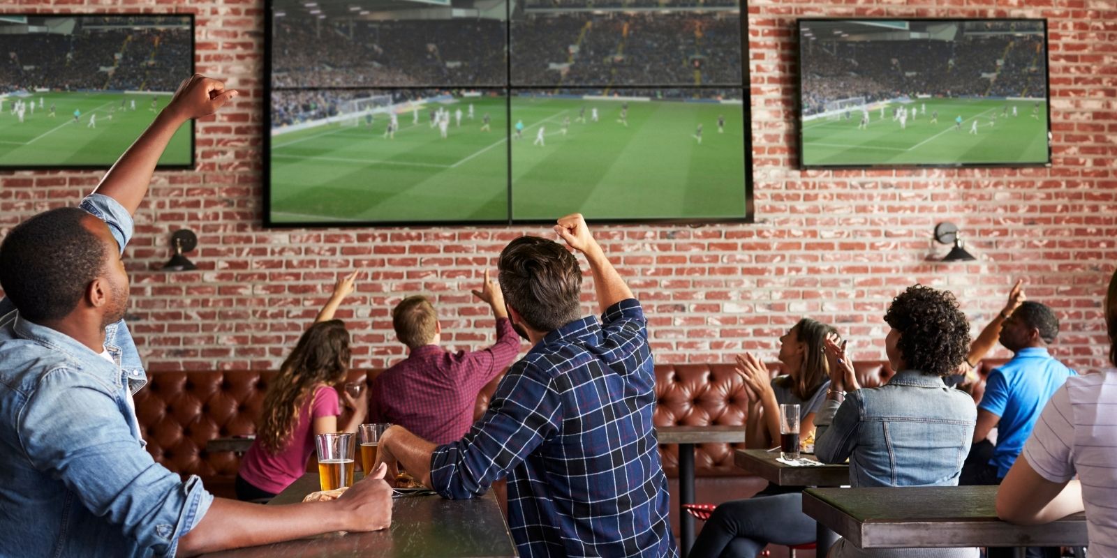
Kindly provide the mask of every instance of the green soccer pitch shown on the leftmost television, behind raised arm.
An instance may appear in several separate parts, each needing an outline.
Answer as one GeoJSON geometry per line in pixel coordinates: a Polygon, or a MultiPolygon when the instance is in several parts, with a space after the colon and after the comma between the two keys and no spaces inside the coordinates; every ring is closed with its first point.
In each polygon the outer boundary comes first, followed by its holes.
{"type": "MultiPolygon", "coordinates": [[[[6,96],[0,103],[0,167],[107,167],[135,142],[170,100],[170,94],[150,93],[6,96]],[[13,113],[17,99],[25,104],[22,122],[18,112],[13,113]],[[31,104],[35,105],[34,110],[31,104]],[[55,107],[54,116],[50,114],[51,105],[55,107]],[[78,112],[76,119],[75,110],[78,112]]],[[[175,132],[159,160],[160,165],[191,164],[191,131],[192,126],[188,124],[175,132]]]]}

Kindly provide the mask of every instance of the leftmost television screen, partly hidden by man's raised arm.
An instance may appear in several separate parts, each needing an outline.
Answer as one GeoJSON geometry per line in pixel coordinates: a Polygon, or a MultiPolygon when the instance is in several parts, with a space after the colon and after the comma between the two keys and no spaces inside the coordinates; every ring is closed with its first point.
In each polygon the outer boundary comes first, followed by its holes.
{"type": "MultiPolygon", "coordinates": [[[[193,16],[0,15],[0,169],[108,167],[193,74],[193,16]]],[[[160,167],[193,166],[193,123],[160,167]]]]}

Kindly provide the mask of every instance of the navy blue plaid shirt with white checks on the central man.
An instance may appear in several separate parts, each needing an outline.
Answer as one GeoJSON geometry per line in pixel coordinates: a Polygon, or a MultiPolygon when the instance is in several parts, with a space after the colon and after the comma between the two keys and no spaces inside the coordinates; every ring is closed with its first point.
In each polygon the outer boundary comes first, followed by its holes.
{"type": "Polygon", "coordinates": [[[551,331],[514,364],[488,412],[431,456],[446,498],[508,477],[519,555],[674,557],[651,415],[656,376],[640,304],[551,331]]]}

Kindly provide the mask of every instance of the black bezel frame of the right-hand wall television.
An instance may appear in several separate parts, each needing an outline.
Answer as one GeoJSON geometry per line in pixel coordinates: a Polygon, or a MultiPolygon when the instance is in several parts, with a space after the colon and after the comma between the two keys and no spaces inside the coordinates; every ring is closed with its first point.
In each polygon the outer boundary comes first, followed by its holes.
{"type": "Polygon", "coordinates": [[[795,135],[799,142],[796,156],[800,171],[819,170],[885,170],[885,169],[1043,169],[1051,167],[1051,50],[1049,45],[1047,18],[798,18],[795,20],[795,135]],[[1041,21],[1043,23],[1043,79],[1047,93],[1047,162],[1044,163],[910,163],[910,164],[815,164],[810,165],[803,160],[803,45],[802,27],[808,21],[1041,21]]]}

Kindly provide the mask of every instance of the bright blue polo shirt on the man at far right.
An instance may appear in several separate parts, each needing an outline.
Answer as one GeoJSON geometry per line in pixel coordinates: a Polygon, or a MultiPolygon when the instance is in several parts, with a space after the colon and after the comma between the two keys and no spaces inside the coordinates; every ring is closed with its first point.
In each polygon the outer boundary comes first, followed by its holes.
{"type": "Polygon", "coordinates": [[[1001,417],[996,423],[996,449],[990,460],[999,478],[1009,474],[1043,405],[1073,374],[1042,347],[1021,349],[1012,360],[990,373],[977,408],[1001,417]]]}

